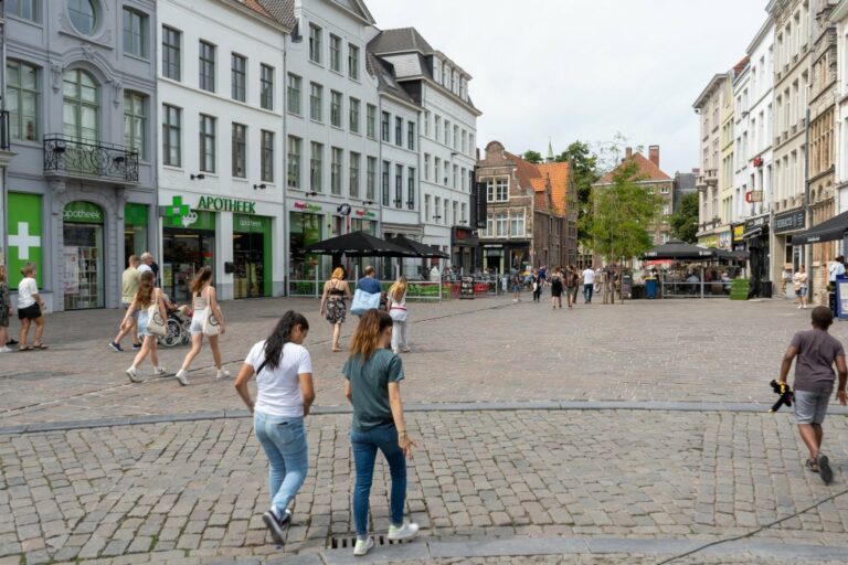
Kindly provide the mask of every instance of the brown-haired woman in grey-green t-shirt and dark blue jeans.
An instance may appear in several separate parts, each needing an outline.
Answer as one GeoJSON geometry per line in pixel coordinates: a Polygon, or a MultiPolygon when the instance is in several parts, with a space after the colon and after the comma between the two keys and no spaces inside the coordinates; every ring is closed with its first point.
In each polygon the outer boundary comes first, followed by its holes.
{"type": "Polygon", "coordinates": [[[415,445],[406,433],[401,402],[403,363],[385,348],[392,341],[392,318],[368,310],[353,332],[344,374],[344,396],[353,406],[350,445],[357,468],[353,489],[353,523],[357,543],[353,555],[365,555],[374,541],[368,535],[368,501],[378,449],[389,463],[392,477],[390,541],[406,540],[418,524],[405,522],[406,460],[415,445]]]}

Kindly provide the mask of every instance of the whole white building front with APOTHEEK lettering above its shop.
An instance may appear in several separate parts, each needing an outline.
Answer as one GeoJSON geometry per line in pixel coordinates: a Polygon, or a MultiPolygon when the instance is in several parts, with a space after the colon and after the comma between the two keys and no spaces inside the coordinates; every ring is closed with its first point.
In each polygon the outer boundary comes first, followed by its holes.
{"type": "Polygon", "coordinates": [[[237,0],[157,9],[162,288],[186,301],[209,266],[222,299],[280,296],[289,30],[237,0]]]}

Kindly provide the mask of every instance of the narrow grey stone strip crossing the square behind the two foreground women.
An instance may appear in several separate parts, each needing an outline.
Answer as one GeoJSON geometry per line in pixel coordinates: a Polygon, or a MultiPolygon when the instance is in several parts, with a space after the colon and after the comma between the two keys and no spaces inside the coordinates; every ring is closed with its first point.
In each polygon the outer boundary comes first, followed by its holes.
{"type": "MultiPolygon", "coordinates": [[[[469,402],[427,403],[404,406],[405,412],[516,412],[516,411],[648,411],[648,412],[712,412],[712,413],[766,413],[768,405],[756,403],[700,403],[700,402],[616,402],[616,401],[569,401],[569,402],[469,402]]],[[[350,406],[315,406],[315,416],[350,414],[350,406]]],[[[786,412],[785,414],[792,414],[786,412]]],[[[828,415],[848,416],[848,408],[830,406],[828,415]]],[[[247,411],[191,412],[187,414],[156,414],[115,418],[81,419],[68,422],[44,422],[20,426],[2,426],[0,435],[40,434],[68,429],[93,429],[114,426],[138,426],[174,422],[201,422],[210,419],[246,418],[247,411]]],[[[776,416],[775,416],[776,417],[776,416]]]]}

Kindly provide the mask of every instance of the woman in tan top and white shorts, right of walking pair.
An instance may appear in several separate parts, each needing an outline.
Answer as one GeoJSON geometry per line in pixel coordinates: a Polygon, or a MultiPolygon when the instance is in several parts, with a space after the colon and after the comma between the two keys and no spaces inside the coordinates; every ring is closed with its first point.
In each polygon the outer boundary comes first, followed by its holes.
{"type": "MultiPolygon", "coordinates": [[[[151,269],[152,270],[152,269],[151,269]]],[[[189,367],[191,362],[198,356],[203,345],[203,324],[206,321],[206,317],[213,315],[220,324],[219,335],[208,335],[209,347],[212,350],[212,359],[215,362],[215,379],[224,379],[230,376],[230,371],[226,371],[221,364],[221,348],[219,348],[218,341],[220,335],[224,334],[226,330],[224,326],[224,315],[221,312],[221,308],[218,306],[218,299],[215,294],[215,287],[212,286],[212,269],[209,267],[201,267],[194,278],[191,279],[192,308],[194,313],[191,317],[191,350],[182,361],[182,366],[177,372],[177,380],[182,386],[189,384],[189,367]]]]}

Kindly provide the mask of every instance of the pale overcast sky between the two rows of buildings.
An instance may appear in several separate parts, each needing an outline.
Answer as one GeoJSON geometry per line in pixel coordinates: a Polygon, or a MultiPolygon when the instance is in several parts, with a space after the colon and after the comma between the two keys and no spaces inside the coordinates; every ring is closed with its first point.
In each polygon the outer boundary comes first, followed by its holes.
{"type": "MultiPolygon", "coordinates": [[[[692,103],[765,21],[766,0],[365,0],[381,29],[414,26],[471,74],[492,139],[542,154],[575,139],[660,146],[672,174],[698,167],[692,103]]],[[[647,150],[647,149],[646,149],[647,150]]]]}

